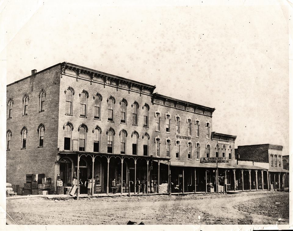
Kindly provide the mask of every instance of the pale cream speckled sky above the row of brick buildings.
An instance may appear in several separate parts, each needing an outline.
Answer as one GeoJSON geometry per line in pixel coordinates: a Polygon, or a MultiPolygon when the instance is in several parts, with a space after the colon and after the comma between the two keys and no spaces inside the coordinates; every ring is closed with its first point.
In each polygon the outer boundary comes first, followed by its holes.
{"type": "Polygon", "coordinates": [[[67,61],[215,107],[213,131],[237,135],[235,147],[271,143],[288,155],[288,3],[180,4],[2,1],[2,88],[67,61]]]}

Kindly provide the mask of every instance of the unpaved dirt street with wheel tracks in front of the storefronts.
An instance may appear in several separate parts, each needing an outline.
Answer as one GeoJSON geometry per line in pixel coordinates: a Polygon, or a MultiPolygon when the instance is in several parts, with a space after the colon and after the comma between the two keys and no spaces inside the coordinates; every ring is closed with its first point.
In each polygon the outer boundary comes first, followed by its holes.
{"type": "Polygon", "coordinates": [[[7,213],[17,224],[278,224],[289,223],[289,193],[247,192],[229,195],[132,196],[7,199],[7,213]],[[277,202],[277,204],[276,204],[277,202]]]}

